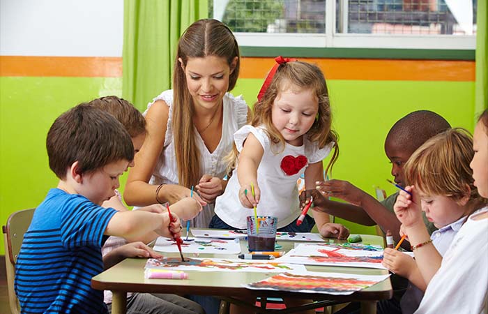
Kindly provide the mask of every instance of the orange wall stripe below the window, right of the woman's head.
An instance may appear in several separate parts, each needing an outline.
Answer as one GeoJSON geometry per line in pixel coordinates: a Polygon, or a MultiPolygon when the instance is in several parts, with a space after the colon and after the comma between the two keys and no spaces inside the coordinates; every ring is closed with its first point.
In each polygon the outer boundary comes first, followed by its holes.
{"type": "MultiPolygon", "coordinates": [[[[402,80],[474,82],[474,61],[394,59],[312,59],[328,80],[402,80]]],[[[273,58],[243,58],[239,78],[264,79],[273,58]]]]}

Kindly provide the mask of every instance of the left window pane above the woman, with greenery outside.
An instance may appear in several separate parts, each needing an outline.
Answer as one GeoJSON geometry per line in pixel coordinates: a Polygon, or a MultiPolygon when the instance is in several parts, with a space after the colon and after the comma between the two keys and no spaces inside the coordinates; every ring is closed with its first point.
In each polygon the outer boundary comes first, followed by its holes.
{"type": "Polygon", "coordinates": [[[325,33],[325,0],[213,0],[210,12],[237,33],[325,33]]]}

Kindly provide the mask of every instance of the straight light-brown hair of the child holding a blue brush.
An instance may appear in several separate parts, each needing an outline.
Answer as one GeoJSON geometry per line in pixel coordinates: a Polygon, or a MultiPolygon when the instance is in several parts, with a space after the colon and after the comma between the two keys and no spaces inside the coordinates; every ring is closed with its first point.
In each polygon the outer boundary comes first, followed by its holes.
{"type": "Polygon", "coordinates": [[[469,196],[468,204],[475,211],[487,200],[480,197],[474,186],[473,170],[469,167],[473,155],[473,138],[467,130],[445,130],[410,156],[404,166],[406,182],[427,195],[443,195],[455,200],[469,196]]]}

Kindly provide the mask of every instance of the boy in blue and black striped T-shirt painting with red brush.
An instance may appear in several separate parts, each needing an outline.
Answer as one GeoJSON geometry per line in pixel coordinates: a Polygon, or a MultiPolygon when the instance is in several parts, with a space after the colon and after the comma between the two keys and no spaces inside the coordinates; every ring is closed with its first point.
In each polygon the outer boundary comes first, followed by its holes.
{"type": "Polygon", "coordinates": [[[77,105],[54,121],[46,146],[59,184],[34,212],[17,257],[15,292],[22,313],[106,313],[103,292],[90,286],[104,264],[160,256],[136,242],[102,258],[107,237],[137,237],[151,231],[180,237],[179,218],[173,214],[170,221],[166,211],[100,207],[114,195],[119,176],[134,158],[130,135],[111,114],[77,105]]]}

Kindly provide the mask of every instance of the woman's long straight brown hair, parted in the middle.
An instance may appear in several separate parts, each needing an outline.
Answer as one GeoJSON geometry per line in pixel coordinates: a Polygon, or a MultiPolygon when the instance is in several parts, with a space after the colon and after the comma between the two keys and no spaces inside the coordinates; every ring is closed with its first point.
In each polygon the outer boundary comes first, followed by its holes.
{"type": "MultiPolygon", "coordinates": [[[[236,67],[229,75],[229,88],[234,89],[241,58],[236,38],[231,30],[218,20],[198,20],[186,29],[178,41],[178,52],[174,61],[173,76],[173,136],[178,145],[176,152],[176,165],[178,167],[178,183],[181,186],[194,186],[198,183],[202,173],[200,172],[200,154],[196,144],[195,128],[192,116],[194,113],[193,100],[188,91],[186,76],[183,67],[190,58],[203,58],[207,56],[222,57],[231,67],[234,59],[238,57],[236,67]]],[[[231,69],[232,70],[232,69],[231,69]]]]}

